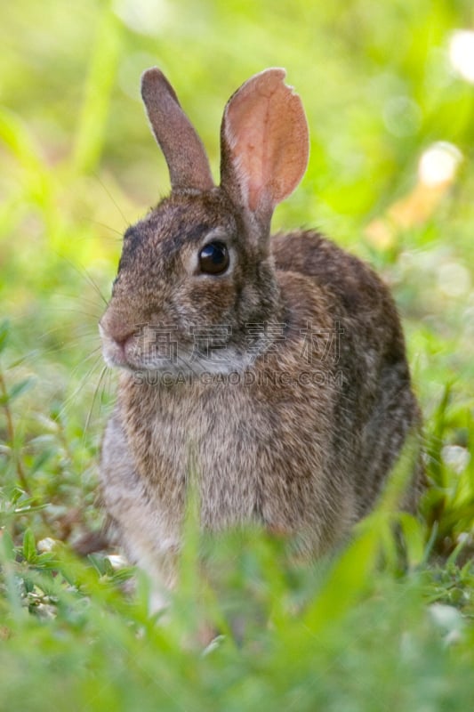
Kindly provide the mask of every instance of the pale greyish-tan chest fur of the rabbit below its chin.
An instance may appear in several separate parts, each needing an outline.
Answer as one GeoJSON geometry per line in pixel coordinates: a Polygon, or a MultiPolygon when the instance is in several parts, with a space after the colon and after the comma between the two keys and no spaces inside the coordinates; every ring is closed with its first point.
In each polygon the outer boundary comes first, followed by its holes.
{"type": "Polygon", "coordinates": [[[254,518],[259,510],[261,443],[265,412],[232,392],[166,393],[147,432],[143,465],[162,501],[187,482],[199,485],[202,519],[219,527],[254,518]]]}

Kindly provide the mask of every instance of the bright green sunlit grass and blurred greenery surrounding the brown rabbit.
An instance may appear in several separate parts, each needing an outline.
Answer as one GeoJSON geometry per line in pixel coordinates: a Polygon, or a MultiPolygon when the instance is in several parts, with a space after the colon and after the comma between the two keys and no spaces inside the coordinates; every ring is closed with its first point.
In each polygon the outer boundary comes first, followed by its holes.
{"type": "Polygon", "coordinates": [[[0,709],[470,709],[474,88],[449,47],[471,4],[86,0],[73,15],[19,0],[2,13],[0,709]],[[420,517],[396,514],[389,490],[343,551],[310,567],[258,531],[200,541],[191,518],[160,621],[145,574],[74,554],[100,528],[114,397],[97,320],[121,234],[168,190],[138,101],[153,64],[213,166],[230,93],[265,66],[288,69],[311,160],[275,228],[317,225],[390,283],[430,478],[420,517]],[[419,166],[438,142],[462,160],[430,184],[419,166]],[[222,632],[209,648],[203,621],[222,632]]]}

